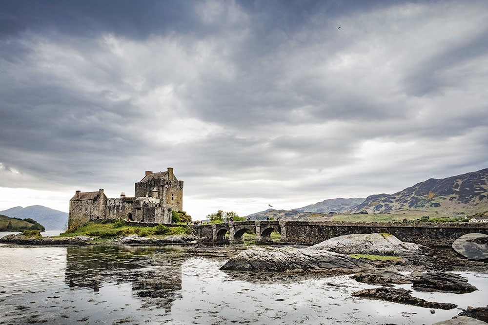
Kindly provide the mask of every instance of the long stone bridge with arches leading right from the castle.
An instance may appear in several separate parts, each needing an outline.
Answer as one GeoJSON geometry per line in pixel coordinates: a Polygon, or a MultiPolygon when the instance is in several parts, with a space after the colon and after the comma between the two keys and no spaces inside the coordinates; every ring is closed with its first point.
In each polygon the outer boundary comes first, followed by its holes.
{"type": "Polygon", "coordinates": [[[450,246],[458,237],[473,232],[488,234],[488,223],[468,222],[310,222],[310,221],[238,221],[220,224],[190,225],[200,238],[214,243],[244,243],[247,230],[256,233],[256,244],[271,243],[271,232],[281,234],[281,244],[314,245],[329,238],[353,234],[386,232],[398,239],[430,247],[450,246]],[[226,233],[229,233],[226,239],[226,233]]]}

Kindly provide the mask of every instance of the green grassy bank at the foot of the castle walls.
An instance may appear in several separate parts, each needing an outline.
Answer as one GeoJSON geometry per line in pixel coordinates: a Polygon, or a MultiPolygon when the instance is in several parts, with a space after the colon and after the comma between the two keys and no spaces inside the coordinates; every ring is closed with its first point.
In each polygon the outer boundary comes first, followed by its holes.
{"type": "Polygon", "coordinates": [[[122,236],[137,234],[139,236],[165,237],[170,235],[183,235],[191,233],[191,229],[182,227],[166,227],[158,225],[156,227],[136,227],[126,226],[123,220],[115,220],[112,223],[92,222],[79,228],[68,230],[61,233],[60,237],[90,236],[99,239],[110,239],[122,236]]]}

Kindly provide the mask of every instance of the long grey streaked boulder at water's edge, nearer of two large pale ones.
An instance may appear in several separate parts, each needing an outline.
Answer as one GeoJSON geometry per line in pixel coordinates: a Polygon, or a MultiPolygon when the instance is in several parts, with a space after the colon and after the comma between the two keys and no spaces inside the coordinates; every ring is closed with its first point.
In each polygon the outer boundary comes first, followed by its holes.
{"type": "Polygon", "coordinates": [[[370,268],[372,261],[319,249],[292,247],[247,249],[232,257],[222,270],[242,271],[333,271],[353,273],[370,268]]]}

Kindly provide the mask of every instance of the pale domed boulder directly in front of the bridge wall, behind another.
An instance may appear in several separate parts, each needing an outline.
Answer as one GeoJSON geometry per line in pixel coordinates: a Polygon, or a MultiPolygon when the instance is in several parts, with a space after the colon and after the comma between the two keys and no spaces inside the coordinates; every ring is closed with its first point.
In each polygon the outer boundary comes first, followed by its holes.
{"type": "Polygon", "coordinates": [[[329,250],[340,254],[367,254],[381,256],[427,255],[430,249],[405,243],[387,233],[351,234],[328,239],[310,249],[329,250]]]}

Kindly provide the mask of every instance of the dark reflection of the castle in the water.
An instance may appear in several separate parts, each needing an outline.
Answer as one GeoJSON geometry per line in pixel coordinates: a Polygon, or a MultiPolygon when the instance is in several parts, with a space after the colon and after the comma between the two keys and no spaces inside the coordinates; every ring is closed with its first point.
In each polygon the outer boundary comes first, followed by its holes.
{"type": "Polygon", "coordinates": [[[129,283],[142,307],[167,312],[181,298],[183,253],[160,247],[68,247],[65,282],[70,288],[98,292],[104,284],[129,283]]]}

